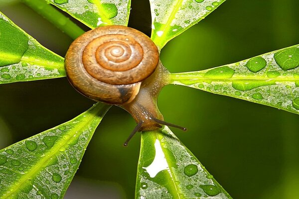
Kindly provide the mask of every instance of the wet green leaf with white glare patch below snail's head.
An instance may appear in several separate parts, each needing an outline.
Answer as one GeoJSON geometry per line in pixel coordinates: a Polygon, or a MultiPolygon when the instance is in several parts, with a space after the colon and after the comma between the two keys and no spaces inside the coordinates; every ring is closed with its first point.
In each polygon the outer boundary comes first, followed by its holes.
{"type": "Polygon", "coordinates": [[[231,199],[168,127],[142,133],[137,199],[231,199]],[[216,197],[216,198],[215,198],[216,197]]]}

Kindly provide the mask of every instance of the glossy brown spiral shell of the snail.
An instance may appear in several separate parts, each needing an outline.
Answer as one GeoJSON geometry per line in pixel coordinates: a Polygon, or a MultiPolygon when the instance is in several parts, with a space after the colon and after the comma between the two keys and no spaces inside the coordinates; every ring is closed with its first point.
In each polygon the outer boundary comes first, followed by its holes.
{"type": "Polygon", "coordinates": [[[77,38],[65,57],[70,83],[83,95],[111,104],[129,103],[159,62],[144,33],[120,25],[98,27],[77,38]]]}

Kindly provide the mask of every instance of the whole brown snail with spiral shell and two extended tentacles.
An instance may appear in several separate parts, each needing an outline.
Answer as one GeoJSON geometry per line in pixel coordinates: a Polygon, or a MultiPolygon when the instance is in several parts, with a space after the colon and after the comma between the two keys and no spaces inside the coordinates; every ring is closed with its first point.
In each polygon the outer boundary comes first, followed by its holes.
{"type": "Polygon", "coordinates": [[[157,107],[157,97],[167,84],[169,72],[159,61],[159,51],[144,33],[126,26],[110,25],[78,37],[65,57],[69,82],[84,96],[127,110],[136,132],[168,125],[157,107]]]}

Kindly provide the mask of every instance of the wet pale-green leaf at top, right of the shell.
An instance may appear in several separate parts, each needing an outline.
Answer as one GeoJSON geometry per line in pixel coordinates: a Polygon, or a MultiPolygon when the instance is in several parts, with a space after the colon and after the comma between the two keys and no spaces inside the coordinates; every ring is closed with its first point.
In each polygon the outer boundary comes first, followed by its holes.
{"type": "Polygon", "coordinates": [[[149,0],[151,39],[161,49],[172,38],[204,19],[225,0],[149,0]]]}

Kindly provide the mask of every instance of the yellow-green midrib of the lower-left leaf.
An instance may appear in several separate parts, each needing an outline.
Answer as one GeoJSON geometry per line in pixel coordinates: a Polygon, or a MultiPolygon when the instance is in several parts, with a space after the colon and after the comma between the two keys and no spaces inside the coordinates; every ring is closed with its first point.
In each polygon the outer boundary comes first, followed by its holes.
{"type": "MultiPolygon", "coordinates": [[[[55,155],[55,154],[59,151],[59,149],[60,149],[62,146],[64,146],[67,142],[69,142],[69,141],[74,137],[74,134],[76,134],[76,132],[77,132],[79,129],[81,129],[83,126],[85,126],[87,123],[89,123],[93,117],[95,117],[94,114],[91,114],[90,116],[87,116],[87,118],[85,117],[85,118],[86,118],[86,121],[84,121],[83,123],[81,123],[78,127],[75,127],[74,129],[72,129],[72,132],[73,132],[73,133],[71,133],[71,136],[70,136],[68,139],[66,139],[66,140],[64,140],[64,139],[60,139],[59,142],[56,142],[55,145],[57,146],[57,148],[56,148],[55,150],[49,150],[49,152],[45,154],[44,158],[41,158],[42,161],[40,161],[39,164],[37,164],[36,166],[34,166],[33,169],[31,169],[30,172],[28,172],[27,174],[23,175],[23,176],[18,180],[20,183],[19,183],[17,186],[13,186],[12,188],[9,187],[9,188],[11,188],[10,191],[9,191],[9,193],[8,193],[5,197],[3,197],[3,198],[1,198],[1,199],[8,199],[9,196],[11,196],[11,194],[14,194],[14,193],[17,192],[18,188],[20,188],[20,187],[27,181],[27,179],[29,179],[29,177],[36,176],[36,173],[38,173],[38,172],[40,171],[40,168],[43,167],[42,165],[45,165],[45,163],[46,163],[51,157],[53,157],[53,155],[55,155]],[[64,145],[61,144],[61,143],[64,143],[64,145]]],[[[77,119],[77,118],[74,118],[74,119],[71,120],[71,121],[74,121],[75,119],[77,119]]],[[[62,126],[62,125],[65,125],[65,124],[61,124],[61,125],[59,125],[59,126],[62,126]]],[[[59,126],[57,126],[57,127],[59,127],[59,126]]],[[[56,129],[56,127],[55,127],[55,129],[56,129]]],[[[50,131],[50,130],[52,130],[52,129],[49,129],[49,131],[50,131]]],[[[7,193],[7,191],[6,191],[6,193],[7,193]]]]}

